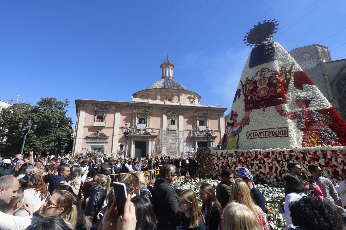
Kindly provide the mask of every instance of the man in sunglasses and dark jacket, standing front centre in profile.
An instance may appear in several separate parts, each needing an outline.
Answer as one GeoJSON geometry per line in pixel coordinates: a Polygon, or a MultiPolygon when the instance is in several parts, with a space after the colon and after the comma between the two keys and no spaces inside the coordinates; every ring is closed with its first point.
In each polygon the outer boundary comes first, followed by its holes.
{"type": "Polygon", "coordinates": [[[176,175],[173,164],[164,164],[160,168],[160,179],[154,183],[153,203],[157,217],[157,230],[175,229],[175,218],[179,212],[177,189],[171,185],[176,175]]]}

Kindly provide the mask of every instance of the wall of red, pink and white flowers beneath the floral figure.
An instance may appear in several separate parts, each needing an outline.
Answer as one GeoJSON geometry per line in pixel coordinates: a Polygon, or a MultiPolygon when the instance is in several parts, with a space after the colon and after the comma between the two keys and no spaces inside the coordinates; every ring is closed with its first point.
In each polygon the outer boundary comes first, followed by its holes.
{"type": "Polygon", "coordinates": [[[224,168],[233,170],[236,167],[246,167],[256,181],[270,184],[282,182],[282,176],[287,173],[289,162],[297,162],[305,169],[308,169],[310,164],[316,164],[324,171],[325,177],[337,181],[343,180],[343,171],[346,166],[345,153],[345,146],[253,150],[200,148],[197,151],[198,156],[211,158],[211,164],[209,162],[207,167],[207,162],[202,162],[200,170],[208,168],[213,177],[219,177],[224,168]]]}

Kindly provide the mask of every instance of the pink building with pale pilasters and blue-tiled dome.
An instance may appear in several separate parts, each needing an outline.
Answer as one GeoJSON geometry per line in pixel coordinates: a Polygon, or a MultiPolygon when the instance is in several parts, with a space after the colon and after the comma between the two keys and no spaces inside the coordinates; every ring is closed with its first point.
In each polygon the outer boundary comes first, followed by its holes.
{"type": "Polygon", "coordinates": [[[174,80],[168,58],[160,67],[161,79],[134,93],[131,102],[76,99],[73,153],[179,157],[190,146],[221,146],[227,108],[201,105],[201,96],[174,80]],[[121,132],[126,123],[133,127],[128,140],[121,132]],[[206,127],[214,132],[211,141],[203,136],[206,127]]]}

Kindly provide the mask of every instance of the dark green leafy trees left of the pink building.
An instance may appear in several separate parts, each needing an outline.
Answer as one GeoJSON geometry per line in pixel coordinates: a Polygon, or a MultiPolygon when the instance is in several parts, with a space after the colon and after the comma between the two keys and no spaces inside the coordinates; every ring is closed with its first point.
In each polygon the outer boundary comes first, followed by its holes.
{"type": "Polygon", "coordinates": [[[33,150],[45,154],[64,154],[72,150],[72,118],[66,117],[69,101],[41,98],[37,106],[14,104],[0,113],[0,152],[13,156],[20,153],[23,137],[18,123],[28,119],[37,125],[34,133],[27,135],[24,152],[33,150]]]}

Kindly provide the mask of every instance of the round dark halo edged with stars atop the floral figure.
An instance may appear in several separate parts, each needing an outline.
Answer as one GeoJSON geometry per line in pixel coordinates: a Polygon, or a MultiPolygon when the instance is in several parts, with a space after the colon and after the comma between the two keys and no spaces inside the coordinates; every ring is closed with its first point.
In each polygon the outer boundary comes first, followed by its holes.
{"type": "Polygon", "coordinates": [[[244,37],[244,43],[246,46],[258,46],[265,41],[269,41],[273,38],[276,30],[279,29],[279,21],[275,19],[263,20],[258,22],[253,28],[251,28],[244,37]]]}

